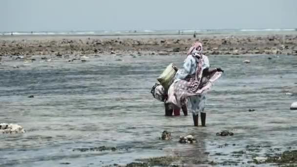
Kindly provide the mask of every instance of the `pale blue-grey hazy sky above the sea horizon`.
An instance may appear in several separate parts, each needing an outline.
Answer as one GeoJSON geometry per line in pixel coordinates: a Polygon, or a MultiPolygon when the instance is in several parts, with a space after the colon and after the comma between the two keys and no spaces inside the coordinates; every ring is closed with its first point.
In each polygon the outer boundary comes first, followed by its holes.
{"type": "Polygon", "coordinates": [[[297,0],[0,0],[0,31],[297,28],[297,0]]]}

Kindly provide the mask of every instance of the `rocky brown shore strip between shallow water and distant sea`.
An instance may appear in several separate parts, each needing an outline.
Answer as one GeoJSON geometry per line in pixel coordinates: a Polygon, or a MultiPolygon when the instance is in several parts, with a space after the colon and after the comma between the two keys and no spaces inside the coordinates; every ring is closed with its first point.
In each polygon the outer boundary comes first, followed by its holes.
{"type": "Polygon", "coordinates": [[[297,55],[297,35],[245,36],[2,36],[0,57],[184,55],[194,41],[206,55],[297,55]]]}

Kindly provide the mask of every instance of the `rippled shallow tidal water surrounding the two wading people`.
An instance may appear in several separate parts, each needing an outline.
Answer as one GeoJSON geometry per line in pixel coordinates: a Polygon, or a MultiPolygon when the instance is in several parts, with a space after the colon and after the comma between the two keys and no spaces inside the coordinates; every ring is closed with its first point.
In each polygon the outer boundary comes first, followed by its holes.
{"type": "Polygon", "coordinates": [[[68,162],[92,167],[164,155],[241,165],[269,149],[294,149],[297,111],[289,107],[297,101],[297,57],[268,57],[209,57],[212,67],[220,66],[225,73],[208,95],[207,127],[194,127],[191,114],[165,117],[163,104],[150,94],[162,70],[171,62],[181,65],[184,56],[2,63],[0,123],[22,125],[27,132],[0,135],[0,165],[50,167],[68,162]],[[251,63],[242,63],[245,59],[251,63]],[[215,135],[225,129],[234,136],[215,135]],[[158,140],[163,130],[172,133],[171,141],[158,140]],[[178,137],[185,134],[193,134],[198,143],[179,144],[178,137]],[[253,152],[247,145],[261,147],[253,152]],[[125,149],[72,150],[97,146],[125,149]],[[246,152],[234,157],[232,152],[240,150],[246,152]]]}

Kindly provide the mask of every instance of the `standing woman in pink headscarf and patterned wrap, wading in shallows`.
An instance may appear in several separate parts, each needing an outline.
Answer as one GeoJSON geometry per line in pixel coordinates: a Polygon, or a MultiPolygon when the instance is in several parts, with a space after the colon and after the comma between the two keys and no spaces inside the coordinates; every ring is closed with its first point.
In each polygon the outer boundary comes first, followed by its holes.
{"type": "Polygon", "coordinates": [[[210,63],[207,56],[202,54],[200,42],[195,42],[187,55],[184,68],[177,71],[175,81],[170,85],[167,101],[181,107],[183,111],[190,110],[195,126],[198,126],[200,113],[201,124],[205,126],[206,93],[224,71],[221,68],[209,69],[210,63]]]}

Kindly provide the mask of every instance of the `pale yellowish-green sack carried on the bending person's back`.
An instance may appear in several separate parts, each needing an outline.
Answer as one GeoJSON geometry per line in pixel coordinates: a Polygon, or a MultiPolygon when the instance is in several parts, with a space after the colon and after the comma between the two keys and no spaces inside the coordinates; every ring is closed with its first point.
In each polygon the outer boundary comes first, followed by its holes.
{"type": "Polygon", "coordinates": [[[165,88],[165,90],[168,90],[170,85],[174,81],[174,77],[176,74],[176,67],[174,68],[173,66],[174,64],[170,63],[163,71],[163,73],[157,78],[157,80],[165,88]]]}

